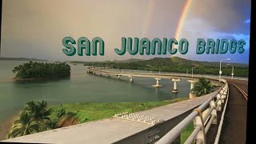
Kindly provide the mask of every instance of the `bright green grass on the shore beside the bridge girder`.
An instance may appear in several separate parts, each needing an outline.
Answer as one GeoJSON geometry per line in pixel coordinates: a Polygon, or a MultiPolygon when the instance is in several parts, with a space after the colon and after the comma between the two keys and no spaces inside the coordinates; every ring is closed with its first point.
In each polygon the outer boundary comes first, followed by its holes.
{"type": "MultiPolygon", "coordinates": [[[[149,110],[154,107],[168,105],[174,102],[181,102],[188,98],[175,98],[171,100],[161,101],[161,102],[113,102],[113,103],[73,103],[73,104],[63,104],[49,106],[54,112],[50,115],[50,118],[57,118],[57,109],[64,108],[66,112],[74,112],[75,117],[78,118],[80,123],[91,122],[100,120],[103,118],[111,118],[114,114],[122,112],[137,112],[141,110],[149,110]]],[[[184,143],[186,138],[194,130],[193,122],[190,123],[183,131],[181,135],[181,142],[184,143]]]]}

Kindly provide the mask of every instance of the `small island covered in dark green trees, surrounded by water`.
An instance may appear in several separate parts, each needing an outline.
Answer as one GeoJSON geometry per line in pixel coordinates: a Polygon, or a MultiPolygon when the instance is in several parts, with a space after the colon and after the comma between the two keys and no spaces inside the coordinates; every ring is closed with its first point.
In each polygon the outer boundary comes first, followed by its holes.
{"type": "Polygon", "coordinates": [[[70,66],[66,63],[27,62],[15,66],[12,72],[16,78],[67,78],[70,66]]]}

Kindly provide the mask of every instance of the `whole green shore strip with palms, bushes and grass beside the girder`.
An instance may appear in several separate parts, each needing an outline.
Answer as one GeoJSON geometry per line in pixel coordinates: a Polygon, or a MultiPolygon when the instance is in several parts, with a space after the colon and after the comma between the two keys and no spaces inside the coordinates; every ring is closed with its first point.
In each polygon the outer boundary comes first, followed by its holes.
{"type": "Polygon", "coordinates": [[[53,130],[62,126],[71,126],[80,122],[90,122],[102,118],[111,118],[116,113],[148,110],[187,98],[175,98],[162,102],[115,102],[115,103],[74,103],[50,106],[47,102],[27,102],[13,129],[7,134],[15,138],[34,134],[43,130],[53,130]]]}

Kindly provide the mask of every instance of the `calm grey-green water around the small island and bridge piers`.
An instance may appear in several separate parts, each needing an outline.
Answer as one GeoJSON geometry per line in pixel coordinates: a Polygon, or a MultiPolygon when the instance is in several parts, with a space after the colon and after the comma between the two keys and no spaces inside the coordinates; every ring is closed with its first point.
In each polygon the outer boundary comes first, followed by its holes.
{"type": "MultiPolygon", "coordinates": [[[[70,79],[14,82],[11,70],[22,63],[25,62],[0,61],[0,122],[17,114],[26,102],[32,100],[46,100],[50,105],[74,102],[151,102],[188,97],[190,91],[190,83],[185,79],[178,82],[178,94],[172,94],[173,82],[170,79],[162,79],[160,84],[164,87],[155,88],[152,86],[156,83],[154,78],[134,78],[131,83],[124,76],[118,80],[115,77],[86,74],[86,66],[82,64],[70,64],[70,79]]],[[[142,72],[130,70],[136,71],[142,72]]]]}

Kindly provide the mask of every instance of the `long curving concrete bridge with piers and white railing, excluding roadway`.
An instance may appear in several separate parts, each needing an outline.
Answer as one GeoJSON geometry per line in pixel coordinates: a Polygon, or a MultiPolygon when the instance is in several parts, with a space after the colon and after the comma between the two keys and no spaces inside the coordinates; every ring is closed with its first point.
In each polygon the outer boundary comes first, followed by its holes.
{"type": "MultiPolygon", "coordinates": [[[[202,77],[202,75],[189,77],[187,74],[115,72],[102,70],[102,68],[88,68],[86,71],[90,74],[111,75],[116,78],[126,76],[130,78],[131,82],[136,77],[155,78],[156,84],[153,86],[156,87],[161,87],[159,81],[162,78],[171,79],[174,83],[178,82],[181,78],[186,78],[191,83],[190,89],[193,88],[194,82],[202,77]]],[[[219,81],[218,77],[203,76],[221,87],[211,94],[206,94],[198,98],[194,98],[193,93],[190,92],[189,100],[159,106],[151,110],[144,110],[134,114],[124,112],[122,114],[115,114],[113,118],[11,138],[3,142],[179,143],[182,130],[191,122],[194,123],[194,131],[186,139],[185,143],[222,142],[223,131],[224,134],[232,133],[225,131],[226,129],[222,130],[222,125],[226,123],[224,116],[230,97],[230,86],[228,82],[234,83],[235,80],[221,79],[219,81]]],[[[177,85],[175,86],[175,84],[173,92],[178,92],[177,85]]],[[[233,124],[238,123],[233,122],[233,124]]]]}

